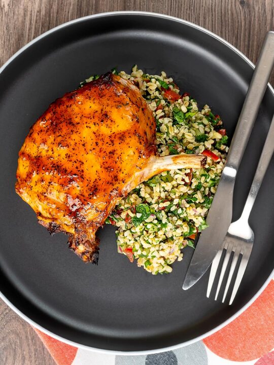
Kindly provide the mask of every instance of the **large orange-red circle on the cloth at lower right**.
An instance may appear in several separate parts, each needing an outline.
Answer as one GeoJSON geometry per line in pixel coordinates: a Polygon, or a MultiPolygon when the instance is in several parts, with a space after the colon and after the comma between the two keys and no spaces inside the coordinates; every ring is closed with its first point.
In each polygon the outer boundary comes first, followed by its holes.
{"type": "Polygon", "coordinates": [[[274,347],[273,299],[274,281],[271,280],[244,313],[204,339],[205,346],[218,356],[233,361],[254,360],[271,351],[274,347]]]}

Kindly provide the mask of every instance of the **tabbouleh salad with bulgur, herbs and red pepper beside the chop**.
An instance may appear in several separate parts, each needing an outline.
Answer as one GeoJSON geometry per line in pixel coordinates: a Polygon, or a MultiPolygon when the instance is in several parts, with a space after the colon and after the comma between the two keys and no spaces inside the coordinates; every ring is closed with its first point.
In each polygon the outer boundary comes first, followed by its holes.
{"type": "Polygon", "coordinates": [[[226,130],[219,115],[208,105],[199,111],[196,100],[182,94],[164,71],[148,75],[136,65],[130,75],[112,71],[139,87],[149,104],[160,156],[208,157],[204,168],[162,172],[143,182],[119,201],[106,221],[118,228],[118,252],[153,275],[170,273],[170,265],[183,259],[182,249],[194,248],[197,233],[208,227],[205,217],[228,152],[226,130]]]}

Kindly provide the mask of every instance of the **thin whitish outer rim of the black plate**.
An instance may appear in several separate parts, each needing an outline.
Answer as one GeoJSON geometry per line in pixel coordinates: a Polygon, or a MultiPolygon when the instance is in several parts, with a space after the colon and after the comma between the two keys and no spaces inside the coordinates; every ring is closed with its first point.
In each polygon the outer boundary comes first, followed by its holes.
{"type": "MultiPolygon", "coordinates": [[[[213,33],[212,31],[205,29],[199,25],[196,25],[192,22],[189,22],[187,20],[184,19],[180,19],[174,16],[170,16],[170,15],[166,15],[166,14],[161,14],[161,13],[153,13],[153,12],[144,12],[144,11],[113,11],[113,12],[104,12],[104,13],[97,13],[97,14],[92,14],[92,15],[87,15],[81,18],[77,18],[77,19],[73,19],[70,20],[68,22],[62,23],[54,28],[51,28],[49,30],[47,30],[46,32],[40,34],[39,36],[37,36],[35,39],[31,40],[30,42],[28,42],[26,45],[24,45],[22,48],[20,48],[16,53],[14,53],[14,55],[12,55],[4,64],[3,66],[0,67],[0,75],[2,74],[2,72],[4,71],[4,69],[17,57],[19,56],[21,53],[23,53],[27,48],[29,48],[31,45],[39,42],[41,39],[43,39],[45,36],[47,36],[48,34],[51,34],[53,32],[55,32],[58,29],[64,28],[66,26],[69,26],[71,24],[74,23],[78,23],[81,22],[83,20],[87,20],[87,19],[92,19],[92,18],[99,18],[99,17],[106,17],[106,16],[114,16],[114,15],[143,15],[143,16],[154,16],[154,17],[159,17],[159,18],[166,18],[169,20],[173,20],[173,21],[177,21],[183,24],[187,24],[193,28],[199,29],[201,31],[203,31],[204,33],[207,33],[209,35],[211,35],[213,38],[217,39],[218,41],[222,42],[223,44],[225,44],[227,47],[229,47],[232,51],[234,51],[235,53],[237,53],[239,56],[241,56],[253,69],[255,68],[255,65],[253,62],[251,62],[251,60],[245,56],[241,51],[239,51],[236,47],[234,47],[233,45],[231,45],[229,42],[227,42],[226,40],[224,40],[223,38],[221,38],[221,36],[213,33]]],[[[271,93],[274,96],[274,89],[272,88],[272,86],[268,83],[267,84],[269,90],[271,91],[271,93]]],[[[22,319],[24,319],[27,323],[29,323],[30,325],[32,325],[33,327],[35,327],[36,329],[40,330],[41,332],[45,333],[46,335],[49,335],[50,337],[61,341],[67,345],[71,345],[74,347],[77,347],[79,349],[83,349],[83,350],[88,350],[88,351],[92,351],[92,352],[99,352],[99,353],[105,353],[105,354],[115,354],[115,355],[145,355],[145,354],[153,354],[153,353],[159,353],[159,352],[163,352],[163,351],[170,351],[170,350],[174,350],[174,349],[178,349],[184,346],[188,346],[191,345],[197,341],[200,341],[210,335],[213,335],[215,332],[221,330],[223,327],[225,327],[228,323],[232,322],[235,318],[237,318],[240,314],[242,314],[262,293],[262,291],[266,288],[266,286],[269,284],[269,282],[271,281],[271,279],[274,279],[274,267],[273,270],[271,272],[271,274],[269,275],[269,277],[266,279],[266,281],[264,282],[264,284],[261,286],[261,288],[257,291],[257,293],[241,308],[239,309],[236,313],[234,313],[231,317],[229,317],[227,320],[225,320],[223,323],[219,324],[218,326],[214,327],[214,329],[208,331],[207,333],[200,335],[192,340],[183,342],[181,344],[177,344],[177,345],[173,345],[173,346],[167,346],[167,347],[163,347],[163,348],[159,348],[159,349],[153,349],[153,350],[143,350],[143,351],[117,351],[117,350],[107,350],[107,349],[98,349],[95,347],[91,347],[91,346],[87,346],[87,345],[82,345],[79,344],[77,342],[71,341],[71,340],[67,340],[59,335],[56,335],[54,333],[52,333],[51,331],[45,329],[43,326],[41,326],[40,324],[38,324],[37,322],[33,321],[32,319],[30,319],[27,315],[25,315],[23,312],[21,312],[19,309],[16,308],[16,306],[14,304],[12,304],[8,298],[5,297],[5,295],[2,293],[2,291],[0,290],[0,298],[16,313],[18,314],[22,319]]]]}

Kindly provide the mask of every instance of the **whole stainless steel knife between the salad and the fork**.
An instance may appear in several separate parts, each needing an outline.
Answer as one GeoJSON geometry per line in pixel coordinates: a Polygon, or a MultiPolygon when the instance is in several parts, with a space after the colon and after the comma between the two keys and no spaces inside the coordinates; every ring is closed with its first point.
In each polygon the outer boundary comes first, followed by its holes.
{"type": "Polygon", "coordinates": [[[208,213],[207,224],[197,242],[183,289],[194,285],[208,270],[218,252],[232,219],[233,190],[236,174],[256,120],[274,64],[274,32],[266,34],[261,53],[231,141],[225,167],[208,213]],[[224,205],[225,201],[225,205],[224,205]]]}

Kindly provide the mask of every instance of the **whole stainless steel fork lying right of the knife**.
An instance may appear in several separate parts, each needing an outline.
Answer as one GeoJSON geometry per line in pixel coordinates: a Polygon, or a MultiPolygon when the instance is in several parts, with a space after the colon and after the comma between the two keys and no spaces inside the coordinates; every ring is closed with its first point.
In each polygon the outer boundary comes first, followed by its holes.
{"type": "Polygon", "coordinates": [[[220,278],[219,278],[219,282],[218,282],[218,286],[217,286],[215,300],[217,300],[217,297],[218,297],[218,294],[220,291],[220,287],[221,287],[221,284],[222,284],[222,281],[224,278],[224,274],[226,272],[229,258],[230,258],[230,255],[232,252],[233,252],[233,259],[231,262],[222,302],[225,301],[227,291],[228,291],[233,273],[234,273],[236,265],[237,265],[237,261],[238,261],[239,257],[242,256],[242,260],[239,264],[239,268],[238,268],[237,276],[235,279],[234,287],[232,290],[229,305],[233,302],[233,300],[235,298],[239,284],[241,283],[243,275],[245,273],[245,270],[246,270],[246,267],[248,264],[248,260],[250,258],[251,250],[253,247],[253,242],[254,242],[254,233],[248,224],[249,215],[250,215],[251,209],[253,207],[254,201],[257,197],[258,191],[260,189],[263,177],[265,175],[265,172],[267,170],[267,167],[269,165],[273,152],[274,152],[274,116],[273,116],[271,124],[270,124],[270,128],[269,128],[269,131],[268,131],[265,143],[264,143],[263,151],[262,151],[259,163],[258,163],[258,167],[257,167],[256,173],[255,173],[255,176],[254,176],[254,179],[252,182],[252,186],[251,186],[245,207],[243,209],[242,215],[236,222],[233,222],[230,224],[227,234],[225,236],[225,239],[223,241],[223,245],[219,249],[218,253],[216,254],[215,259],[213,260],[213,263],[211,266],[211,271],[210,271],[208,291],[207,291],[208,298],[211,293],[212,285],[213,285],[214,279],[216,277],[217,269],[219,267],[219,263],[220,263],[220,259],[221,259],[223,250],[226,250],[226,252],[225,252],[223,266],[221,269],[221,274],[220,274],[220,278]]]}

